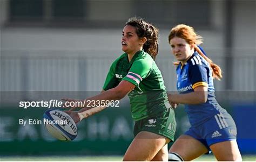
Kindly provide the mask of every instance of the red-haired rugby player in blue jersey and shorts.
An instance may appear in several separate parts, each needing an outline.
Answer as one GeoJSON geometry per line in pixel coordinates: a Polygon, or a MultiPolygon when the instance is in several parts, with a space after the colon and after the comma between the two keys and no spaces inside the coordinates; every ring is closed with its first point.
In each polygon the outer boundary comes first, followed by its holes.
{"type": "Polygon", "coordinates": [[[177,25],[169,34],[177,65],[179,94],[169,94],[173,104],[185,104],[191,128],[169,150],[169,160],[193,160],[209,152],[221,161],[241,161],[236,142],[237,128],[228,112],[215,99],[213,79],[221,69],[197,46],[203,43],[193,27],[177,25]]]}

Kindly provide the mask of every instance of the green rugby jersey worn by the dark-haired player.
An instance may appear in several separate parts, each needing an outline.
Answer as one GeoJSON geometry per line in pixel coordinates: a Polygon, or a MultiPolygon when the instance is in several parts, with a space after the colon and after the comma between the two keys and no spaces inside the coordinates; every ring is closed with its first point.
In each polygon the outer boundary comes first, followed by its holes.
{"type": "Polygon", "coordinates": [[[104,83],[104,90],[116,87],[126,80],[136,87],[128,94],[131,115],[135,121],[163,112],[171,105],[167,100],[164,80],[156,62],[142,51],[134,54],[129,62],[127,53],[113,62],[104,83]]]}

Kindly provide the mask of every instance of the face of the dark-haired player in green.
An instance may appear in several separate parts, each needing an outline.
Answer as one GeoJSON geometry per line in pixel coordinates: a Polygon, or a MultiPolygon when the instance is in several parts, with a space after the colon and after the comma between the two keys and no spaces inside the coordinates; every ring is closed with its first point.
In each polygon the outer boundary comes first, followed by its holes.
{"type": "Polygon", "coordinates": [[[142,40],[139,39],[135,27],[126,25],[122,33],[122,50],[125,53],[134,54],[137,51],[142,50],[142,40]]]}

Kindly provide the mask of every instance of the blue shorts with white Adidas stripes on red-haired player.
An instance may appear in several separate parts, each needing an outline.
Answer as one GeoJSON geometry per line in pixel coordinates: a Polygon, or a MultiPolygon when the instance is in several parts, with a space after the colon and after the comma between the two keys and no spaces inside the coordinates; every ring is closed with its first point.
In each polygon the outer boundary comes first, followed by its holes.
{"type": "Polygon", "coordinates": [[[210,151],[212,144],[227,140],[236,140],[237,126],[235,126],[235,122],[230,114],[220,112],[203,124],[191,126],[184,134],[196,138],[210,151]]]}

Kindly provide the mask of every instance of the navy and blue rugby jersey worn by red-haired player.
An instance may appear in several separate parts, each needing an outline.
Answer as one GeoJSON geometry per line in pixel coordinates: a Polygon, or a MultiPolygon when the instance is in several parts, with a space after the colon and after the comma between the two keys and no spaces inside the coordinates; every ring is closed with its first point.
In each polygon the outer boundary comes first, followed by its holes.
{"type": "Polygon", "coordinates": [[[183,66],[179,64],[176,72],[177,89],[180,94],[191,93],[198,86],[208,87],[206,103],[185,104],[185,111],[192,126],[203,123],[221,111],[226,111],[215,99],[212,70],[210,64],[200,54],[195,52],[186,64],[183,66]]]}

